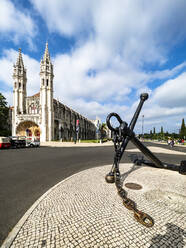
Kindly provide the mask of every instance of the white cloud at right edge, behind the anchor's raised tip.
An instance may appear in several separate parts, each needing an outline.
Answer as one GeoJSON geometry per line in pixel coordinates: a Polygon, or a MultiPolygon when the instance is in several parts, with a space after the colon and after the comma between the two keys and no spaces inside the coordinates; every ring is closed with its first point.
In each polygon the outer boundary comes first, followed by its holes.
{"type": "MultiPolygon", "coordinates": [[[[186,116],[186,72],[167,80],[150,92],[149,100],[144,103],[141,115],[145,116],[146,130],[161,126],[168,131],[178,132],[181,120],[186,116]]],[[[135,102],[132,110],[137,106],[135,102]]],[[[138,127],[141,123],[139,121],[138,127]]]]}

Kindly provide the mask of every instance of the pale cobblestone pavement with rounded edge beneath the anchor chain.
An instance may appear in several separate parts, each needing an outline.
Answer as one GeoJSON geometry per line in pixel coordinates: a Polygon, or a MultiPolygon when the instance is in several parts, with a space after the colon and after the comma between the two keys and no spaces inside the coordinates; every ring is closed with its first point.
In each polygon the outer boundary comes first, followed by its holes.
{"type": "Polygon", "coordinates": [[[105,182],[110,168],[82,171],[54,187],[34,208],[11,247],[186,247],[186,176],[120,165],[128,197],[154,219],[154,226],[146,228],[123,206],[115,185],[105,182]],[[127,182],[142,189],[128,189],[127,182]]]}

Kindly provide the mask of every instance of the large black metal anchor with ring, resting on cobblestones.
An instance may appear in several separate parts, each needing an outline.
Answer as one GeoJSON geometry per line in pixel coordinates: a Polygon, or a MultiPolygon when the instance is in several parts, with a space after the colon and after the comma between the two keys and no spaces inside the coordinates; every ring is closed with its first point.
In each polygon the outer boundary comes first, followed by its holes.
{"type": "Polygon", "coordinates": [[[120,175],[119,172],[119,162],[122,158],[122,155],[127,147],[127,144],[129,141],[131,141],[150,161],[146,161],[143,158],[142,159],[136,159],[133,161],[137,165],[146,164],[149,166],[154,166],[158,168],[163,169],[169,169],[178,171],[180,174],[186,175],[186,161],[183,160],[180,163],[180,166],[174,165],[174,164],[168,164],[168,163],[162,163],[145,145],[142,144],[142,142],[135,136],[134,133],[134,127],[136,124],[136,121],[138,119],[138,116],[140,114],[141,108],[143,106],[143,103],[148,99],[147,93],[142,93],[140,95],[140,102],[136,109],[136,112],[134,113],[134,116],[128,126],[128,124],[121,119],[121,117],[117,113],[110,113],[107,116],[106,123],[108,128],[114,133],[114,146],[115,146],[115,155],[114,155],[114,163],[112,166],[111,171],[106,175],[106,181],[108,183],[114,183],[115,182],[115,175],[120,175]],[[115,117],[118,122],[120,123],[119,127],[114,128],[111,125],[111,117],[115,117]]]}

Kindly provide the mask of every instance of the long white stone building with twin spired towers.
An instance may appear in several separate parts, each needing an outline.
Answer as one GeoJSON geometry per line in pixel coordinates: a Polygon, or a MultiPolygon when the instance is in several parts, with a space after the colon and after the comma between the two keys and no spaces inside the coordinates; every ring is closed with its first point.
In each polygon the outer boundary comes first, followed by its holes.
{"type": "Polygon", "coordinates": [[[27,97],[26,69],[21,50],[14,65],[12,135],[39,137],[41,141],[94,139],[94,123],[53,98],[53,65],[48,43],[40,63],[40,92],[27,97]],[[79,120],[79,121],[78,121],[79,120]]]}

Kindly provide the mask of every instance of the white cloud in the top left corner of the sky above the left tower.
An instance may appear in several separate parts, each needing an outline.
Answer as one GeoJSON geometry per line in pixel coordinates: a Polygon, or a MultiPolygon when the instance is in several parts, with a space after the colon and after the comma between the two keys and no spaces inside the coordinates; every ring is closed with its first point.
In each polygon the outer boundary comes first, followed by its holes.
{"type": "Polygon", "coordinates": [[[32,38],[36,35],[36,25],[30,15],[18,10],[9,0],[0,0],[0,34],[15,43],[26,40],[33,48],[32,38]]]}

